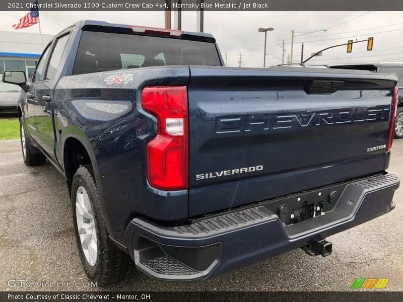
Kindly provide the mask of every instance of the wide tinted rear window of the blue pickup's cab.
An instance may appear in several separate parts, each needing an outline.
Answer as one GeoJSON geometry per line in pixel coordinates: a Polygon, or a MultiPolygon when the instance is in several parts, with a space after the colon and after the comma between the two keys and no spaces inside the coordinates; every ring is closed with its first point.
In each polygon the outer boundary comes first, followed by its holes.
{"type": "Polygon", "coordinates": [[[165,65],[221,66],[212,42],[83,31],[73,74],[165,65]]]}

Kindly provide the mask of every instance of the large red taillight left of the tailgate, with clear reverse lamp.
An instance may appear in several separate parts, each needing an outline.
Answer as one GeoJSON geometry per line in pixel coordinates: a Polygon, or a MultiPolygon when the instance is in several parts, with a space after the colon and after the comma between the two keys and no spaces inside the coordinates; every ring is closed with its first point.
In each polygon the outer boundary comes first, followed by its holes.
{"type": "Polygon", "coordinates": [[[188,186],[188,114],[186,86],[143,89],[143,108],[158,120],[158,132],[147,143],[147,179],[161,190],[188,186]]]}

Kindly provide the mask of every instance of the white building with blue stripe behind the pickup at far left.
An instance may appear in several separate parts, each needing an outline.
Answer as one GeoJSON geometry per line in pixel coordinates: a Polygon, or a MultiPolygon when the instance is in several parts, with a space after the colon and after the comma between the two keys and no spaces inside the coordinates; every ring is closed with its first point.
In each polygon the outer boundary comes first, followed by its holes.
{"type": "Polygon", "coordinates": [[[53,35],[0,31],[0,72],[22,70],[31,77],[36,62],[53,35]]]}

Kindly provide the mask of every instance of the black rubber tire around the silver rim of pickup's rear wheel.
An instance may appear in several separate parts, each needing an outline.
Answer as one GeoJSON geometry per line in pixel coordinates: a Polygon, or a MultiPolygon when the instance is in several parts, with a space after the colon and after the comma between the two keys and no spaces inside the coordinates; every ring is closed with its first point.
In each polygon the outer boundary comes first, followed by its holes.
{"type": "Polygon", "coordinates": [[[107,286],[122,280],[126,275],[131,273],[135,266],[133,261],[109,239],[104,214],[99,201],[94,172],[91,166],[80,167],[74,175],[72,183],[72,209],[77,247],[84,271],[91,281],[97,282],[98,286],[107,286]],[[77,190],[80,187],[83,187],[88,194],[95,220],[98,256],[93,266],[89,264],[84,255],[77,225],[76,196],[77,190]]]}

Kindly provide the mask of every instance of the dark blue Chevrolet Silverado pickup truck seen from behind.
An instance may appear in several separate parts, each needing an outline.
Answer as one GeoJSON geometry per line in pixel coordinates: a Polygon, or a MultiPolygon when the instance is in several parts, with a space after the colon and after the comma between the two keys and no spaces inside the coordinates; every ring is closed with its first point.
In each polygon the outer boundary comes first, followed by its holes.
{"type": "MultiPolygon", "coordinates": [[[[225,67],[210,34],[82,21],[19,85],[26,165],[66,179],[83,267],[201,281],[385,214],[391,74],[225,67]]],[[[52,205],[49,205],[52,207],[52,205]]],[[[352,243],[354,244],[354,243],[352,243]]]]}

